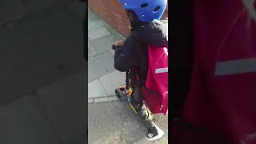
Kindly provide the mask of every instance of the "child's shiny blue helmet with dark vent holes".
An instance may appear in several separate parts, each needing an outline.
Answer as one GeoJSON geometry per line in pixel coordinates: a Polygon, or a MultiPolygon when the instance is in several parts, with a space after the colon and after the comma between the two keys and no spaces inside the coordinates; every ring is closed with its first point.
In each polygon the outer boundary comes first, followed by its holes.
{"type": "Polygon", "coordinates": [[[167,0],[118,0],[125,10],[132,10],[142,22],[160,20],[166,10],[167,0]]]}

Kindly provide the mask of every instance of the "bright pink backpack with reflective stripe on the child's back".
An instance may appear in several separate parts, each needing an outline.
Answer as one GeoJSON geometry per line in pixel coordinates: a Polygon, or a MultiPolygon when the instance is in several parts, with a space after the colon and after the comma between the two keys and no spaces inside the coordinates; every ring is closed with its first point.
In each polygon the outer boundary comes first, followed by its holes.
{"type": "Polygon", "coordinates": [[[149,70],[145,89],[146,105],[153,114],[168,114],[168,48],[148,47],[149,70]]]}

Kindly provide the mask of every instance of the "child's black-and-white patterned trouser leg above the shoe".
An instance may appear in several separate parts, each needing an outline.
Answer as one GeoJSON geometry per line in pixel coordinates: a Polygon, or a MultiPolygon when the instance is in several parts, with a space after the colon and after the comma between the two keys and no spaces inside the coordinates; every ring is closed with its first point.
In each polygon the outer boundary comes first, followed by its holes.
{"type": "Polygon", "coordinates": [[[133,106],[138,111],[138,117],[142,119],[143,123],[147,128],[154,127],[154,121],[150,118],[150,114],[146,109],[146,105],[143,103],[141,90],[138,88],[134,89],[132,94],[132,99],[134,100],[133,106]]]}

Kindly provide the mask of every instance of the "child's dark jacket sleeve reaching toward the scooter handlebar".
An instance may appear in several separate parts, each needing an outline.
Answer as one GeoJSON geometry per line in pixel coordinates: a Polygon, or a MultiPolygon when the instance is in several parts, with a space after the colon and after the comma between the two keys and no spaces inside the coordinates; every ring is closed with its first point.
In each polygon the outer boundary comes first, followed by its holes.
{"type": "Polygon", "coordinates": [[[126,38],[123,46],[115,46],[114,52],[114,68],[121,72],[126,72],[133,65],[136,59],[135,51],[138,43],[133,38],[126,38]]]}

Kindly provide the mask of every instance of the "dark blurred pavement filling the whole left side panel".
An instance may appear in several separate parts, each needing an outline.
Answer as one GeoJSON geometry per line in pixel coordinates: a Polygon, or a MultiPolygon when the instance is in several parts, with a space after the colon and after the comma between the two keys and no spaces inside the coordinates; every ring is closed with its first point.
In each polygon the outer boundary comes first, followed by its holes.
{"type": "Polygon", "coordinates": [[[0,2],[0,143],[86,143],[85,6],[0,2]]]}

